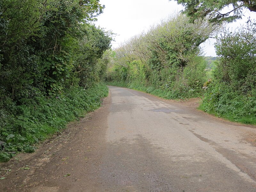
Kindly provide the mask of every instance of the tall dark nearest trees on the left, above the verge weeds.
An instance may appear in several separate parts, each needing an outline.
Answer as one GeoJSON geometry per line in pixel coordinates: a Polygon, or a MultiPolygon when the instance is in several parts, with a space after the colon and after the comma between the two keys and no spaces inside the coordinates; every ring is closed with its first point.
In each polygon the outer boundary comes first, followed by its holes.
{"type": "Polygon", "coordinates": [[[0,100],[1,94],[12,100],[59,94],[77,42],[87,36],[82,26],[103,8],[99,0],[0,0],[0,100]]]}

